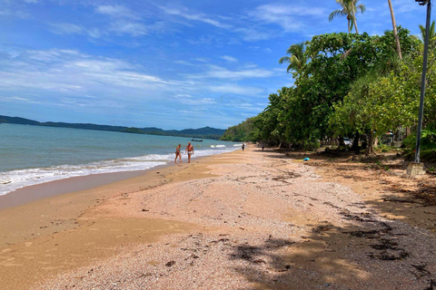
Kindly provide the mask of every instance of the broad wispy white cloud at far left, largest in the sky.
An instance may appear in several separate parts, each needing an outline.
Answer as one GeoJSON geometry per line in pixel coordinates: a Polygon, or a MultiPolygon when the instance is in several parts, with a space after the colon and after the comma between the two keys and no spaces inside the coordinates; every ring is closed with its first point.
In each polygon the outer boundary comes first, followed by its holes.
{"type": "Polygon", "coordinates": [[[35,89],[80,95],[107,91],[122,98],[125,90],[155,92],[166,87],[190,87],[193,82],[163,80],[142,73],[142,68],[111,58],[99,58],[73,50],[26,51],[14,60],[3,60],[0,88],[35,89]],[[113,91],[113,92],[111,92],[113,91]],[[117,93],[120,93],[117,95],[117,93]]]}

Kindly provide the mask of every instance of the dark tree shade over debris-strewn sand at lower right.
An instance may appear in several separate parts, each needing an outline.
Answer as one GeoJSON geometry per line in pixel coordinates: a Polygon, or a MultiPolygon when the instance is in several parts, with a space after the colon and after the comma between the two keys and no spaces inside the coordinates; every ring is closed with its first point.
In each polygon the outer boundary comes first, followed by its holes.
{"type": "MultiPolygon", "coordinates": [[[[330,204],[346,226],[327,222],[306,225],[312,232],[301,240],[270,236],[260,242],[233,245],[229,258],[243,263],[234,270],[254,285],[247,290],[436,289],[436,186],[432,180],[405,189],[401,182],[391,182],[390,174],[385,177],[377,169],[373,169],[373,177],[360,177],[358,170],[374,164],[382,170],[383,165],[374,160],[347,162],[351,154],[332,160],[331,156],[315,154],[277,155],[270,149],[263,153],[279,159],[310,157],[322,164],[334,163],[332,169],[343,179],[356,179],[363,187],[364,182],[376,180],[383,194],[382,198],[354,204],[362,208],[360,213],[330,204]]],[[[388,164],[389,159],[396,160],[388,157],[383,162],[388,164]]]]}

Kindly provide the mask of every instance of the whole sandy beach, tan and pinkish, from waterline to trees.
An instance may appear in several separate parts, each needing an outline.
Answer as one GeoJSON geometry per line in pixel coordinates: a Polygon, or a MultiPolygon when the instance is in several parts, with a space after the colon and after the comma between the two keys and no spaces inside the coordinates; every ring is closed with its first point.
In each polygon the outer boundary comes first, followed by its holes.
{"type": "Polygon", "coordinates": [[[391,168],[249,146],[0,209],[0,289],[433,289],[436,183],[391,168]]]}

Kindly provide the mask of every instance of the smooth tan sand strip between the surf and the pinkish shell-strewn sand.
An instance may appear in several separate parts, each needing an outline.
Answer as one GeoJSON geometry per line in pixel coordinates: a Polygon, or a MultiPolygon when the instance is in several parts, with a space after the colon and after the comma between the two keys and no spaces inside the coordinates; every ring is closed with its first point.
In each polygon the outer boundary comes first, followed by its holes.
{"type": "MultiPolygon", "coordinates": [[[[92,189],[54,195],[24,205],[0,209],[0,280],[2,286],[11,290],[28,290],[31,285],[39,281],[35,281],[35,276],[43,281],[64,271],[90,264],[95,259],[106,259],[115,256],[117,253],[116,248],[125,245],[155,243],[159,237],[164,235],[185,232],[195,228],[196,226],[189,222],[169,221],[164,218],[138,219],[105,215],[100,217],[99,214],[94,214],[94,210],[95,208],[104,207],[104,204],[111,202],[111,200],[124,199],[130,194],[159,188],[164,184],[178,182],[179,180],[210,177],[210,174],[202,172],[198,172],[191,177],[190,170],[192,170],[193,166],[206,166],[203,163],[208,164],[210,160],[217,156],[232,154],[233,152],[199,157],[191,160],[191,163],[187,163],[187,161],[177,164],[169,162],[169,164],[160,167],[140,171],[140,175],[134,178],[122,179],[92,189]],[[181,175],[183,171],[188,172],[181,175]],[[111,229],[113,227],[118,229],[111,229]],[[139,228],[142,228],[144,235],[132,239],[131,235],[137,232],[139,228]],[[125,237],[118,235],[118,231],[125,232],[125,237]],[[95,243],[96,240],[99,240],[98,244],[95,243]],[[107,246],[100,247],[102,242],[107,246]],[[59,245],[65,247],[61,250],[61,247],[58,247],[59,245]],[[35,252],[29,252],[32,249],[35,252]],[[52,255],[43,255],[30,259],[26,254],[44,254],[52,250],[56,252],[60,250],[64,254],[56,256],[55,260],[52,255]],[[89,254],[84,255],[84,252],[89,254]],[[19,261],[15,257],[2,259],[11,254],[20,256],[21,253],[24,254],[22,254],[23,257],[19,261]],[[69,256],[69,258],[66,258],[65,255],[69,256]],[[34,262],[34,258],[38,262],[34,262]],[[64,263],[62,261],[65,258],[73,259],[76,262],[64,263]],[[57,266],[40,268],[39,264],[41,263],[57,266]],[[21,268],[18,273],[16,267],[21,268]]],[[[83,178],[78,177],[76,179],[82,180],[83,178]]],[[[62,187],[65,180],[52,181],[45,184],[45,186],[54,189],[62,187]]],[[[43,188],[45,186],[43,185],[43,188]]]]}

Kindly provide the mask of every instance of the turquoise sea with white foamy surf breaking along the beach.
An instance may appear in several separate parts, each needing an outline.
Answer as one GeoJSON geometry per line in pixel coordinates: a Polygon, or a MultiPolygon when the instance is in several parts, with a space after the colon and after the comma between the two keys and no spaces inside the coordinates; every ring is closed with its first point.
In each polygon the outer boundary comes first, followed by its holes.
{"type": "MultiPolygon", "coordinates": [[[[0,124],[0,195],[90,174],[151,169],[173,162],[191,138],[0,124]]],[[[219,140],[192,142],[193,159],[241,148],[219,140]]]]}

